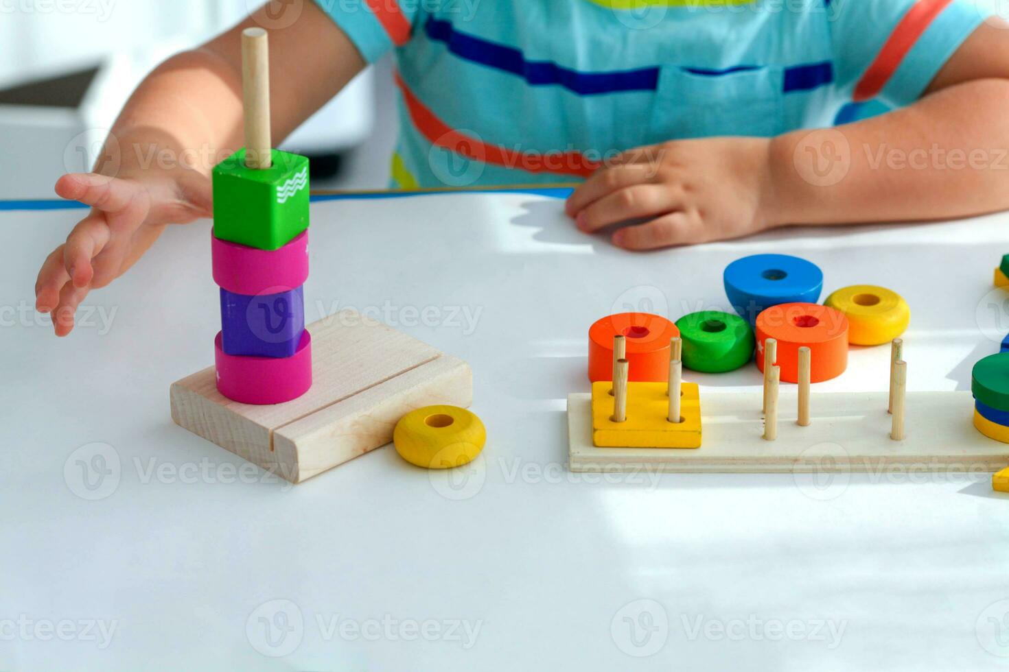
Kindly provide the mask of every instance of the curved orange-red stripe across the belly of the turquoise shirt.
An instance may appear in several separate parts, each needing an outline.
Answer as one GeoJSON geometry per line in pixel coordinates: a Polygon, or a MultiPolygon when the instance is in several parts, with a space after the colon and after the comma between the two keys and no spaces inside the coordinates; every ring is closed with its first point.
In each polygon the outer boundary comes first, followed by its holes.
{"type": "Polygon", "coordinates": [[[464,133],[453,130],[435,116],[414,93],[407,88],[403,78],[396,73],[396,84],[403,93],[414,126],[427,138],[428,142],[448,149],[460,156],[482,163],[492,163],[506,168],[519,168],[533,173],[555,173],[588,177],[601,163],[586,158],[576,151],[566,152],[521,152],[487,144],[464,133]]]}

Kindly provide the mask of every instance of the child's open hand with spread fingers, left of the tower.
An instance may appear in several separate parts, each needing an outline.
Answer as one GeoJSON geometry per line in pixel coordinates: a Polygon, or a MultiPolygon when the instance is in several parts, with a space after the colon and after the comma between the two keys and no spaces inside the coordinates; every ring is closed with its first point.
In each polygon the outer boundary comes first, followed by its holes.
{"type": "Polygon", "coordinates": [[[35,309],[52,313],[57,335],[74,328],[74,313],[88,292],[122,275],[165,225],[210,216],[209,179],[186,172],[71,173],[57,181],[58,194],[92,207],[67,242],[46,257],[35,282],[35,309]]]}

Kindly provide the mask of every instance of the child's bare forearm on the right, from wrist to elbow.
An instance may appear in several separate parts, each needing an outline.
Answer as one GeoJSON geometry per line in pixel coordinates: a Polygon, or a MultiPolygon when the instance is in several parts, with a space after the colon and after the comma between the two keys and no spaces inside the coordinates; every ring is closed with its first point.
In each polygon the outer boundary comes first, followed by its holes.
{"type": "Polygon", "coordinates": [[[968,217],[1009,208],[1009,81],[978,80],[916,104],[770,146],[771,226],[968,217]]]}

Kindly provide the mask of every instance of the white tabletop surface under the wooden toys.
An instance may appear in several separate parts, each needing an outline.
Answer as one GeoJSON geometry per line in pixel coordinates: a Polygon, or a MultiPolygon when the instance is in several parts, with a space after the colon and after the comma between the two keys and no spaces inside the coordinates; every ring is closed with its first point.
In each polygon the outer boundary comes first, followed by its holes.
{"type": "MultiPolygon", "coordinates": [[[[170,383],[213,357],[208,223],[171,229],[85,301],[91,326],[57,341],[34,321],[33,283],[80,212],[0,214],[13,247],[0,265],[0,669],[1005,664],[1009,500],[987,477],[572,475],[564,407],[588,389],[592,320],[722,305],[725,264],[770,251],[820,264],[827,291],[900,291],[913,313],[910,389],[965,390],[1009,331],[1006,296],[989,284],[1009,218],[795,229],[635,255],[560,213],[524,194],[313,207],[307,318],[398,307],[394,325],[472,365],[489,440],[469,471],[429,474],[385,447],[297,487],[259,483],[169,417],[170,383]],[[440,324],[410,324],[424,307],[440,324]],[[478,315],[475,328],[460,314],[478,315]],[[120,468],[92,472],[89,491],[81,464],[95,454],[120,468]],[[265,639],[292,604],[302,626],[292,612],[289,637],[265,639]],[[70,641],[34,630],[64,620],[115,624],[114,636],[101,649],[95,630],[70,641]],[[463,621],[479,624],[475,642],[449,632],[463,621]]],[[[884,390],[888,361],[886,348],[857,350],[814,393],[884,390]]],[[[693,378],[760,383],[754,368],[693,378]]]]}

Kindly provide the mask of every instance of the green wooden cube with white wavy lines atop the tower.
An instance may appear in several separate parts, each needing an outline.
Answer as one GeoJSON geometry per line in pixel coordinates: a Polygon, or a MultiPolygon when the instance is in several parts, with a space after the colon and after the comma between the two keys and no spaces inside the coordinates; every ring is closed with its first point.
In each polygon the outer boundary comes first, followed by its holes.
{"type": "Polygon", "coordinates": [[[272,150],[265,170],[245,166],[245,150],[214,168],[214,235],[275,250],[309,228],[309,160],[272,150]]]}

